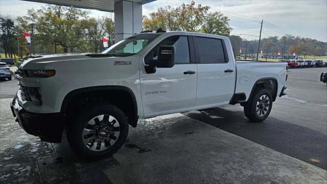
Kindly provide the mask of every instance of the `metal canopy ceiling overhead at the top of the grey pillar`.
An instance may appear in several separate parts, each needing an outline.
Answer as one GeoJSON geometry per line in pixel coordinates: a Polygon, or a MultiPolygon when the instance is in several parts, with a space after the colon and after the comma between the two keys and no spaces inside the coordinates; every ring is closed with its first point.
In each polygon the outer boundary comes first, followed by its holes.
{"type": "MultiPolygon", "coordinates": [[[[113,12],[113,5],[121,0],[23,0],[37,3],[48,3],[53,5],[72,6],[76,8],[94,9],[106,12],[113,12]]],[[[155,0],[128,0],[144,5],[155,0]]]]}

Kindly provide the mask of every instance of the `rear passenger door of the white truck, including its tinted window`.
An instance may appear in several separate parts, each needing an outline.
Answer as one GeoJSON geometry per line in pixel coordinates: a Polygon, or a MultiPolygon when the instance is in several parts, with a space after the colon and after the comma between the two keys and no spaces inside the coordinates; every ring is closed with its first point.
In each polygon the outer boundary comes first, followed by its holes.
{"type": "Polygon", "coordinates": [[[228,104],[235,90],[236,71],[225,40],[194,36],[198,82],[195,106],[228,104]]]}

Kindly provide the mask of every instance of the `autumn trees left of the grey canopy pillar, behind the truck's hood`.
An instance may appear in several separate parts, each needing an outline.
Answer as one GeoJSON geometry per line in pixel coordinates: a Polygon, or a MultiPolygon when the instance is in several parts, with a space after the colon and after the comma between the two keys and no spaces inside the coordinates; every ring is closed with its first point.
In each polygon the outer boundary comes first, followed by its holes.
{"type": "MultiPolygon", "coordinates": [[[[29,55],[32,49],[27,46],[22,31],[34,32],[36,53],[101,52],[102,37],[114,43],[113,18],[89,17],[89,11],[79,8],[48,5],[40,9],[29,9],[27,16],[16,18],[1,16],[0,47],[6,57],[18,54],[29,55]]],[[[1,51],[0,51],[1,52],[1,51]]]]}

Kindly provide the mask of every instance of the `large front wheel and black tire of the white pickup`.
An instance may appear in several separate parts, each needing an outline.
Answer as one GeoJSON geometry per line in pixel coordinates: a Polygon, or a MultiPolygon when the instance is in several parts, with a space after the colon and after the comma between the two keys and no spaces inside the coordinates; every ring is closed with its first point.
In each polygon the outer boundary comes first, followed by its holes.
{"type": "Polygon", "coordinates": [[[125,143],[127,117],[115,105],[91,105],[76,114],[76,118],[72,116],[69,119],[75,121],[67,127],[67,140],[78,155],[87,159],[101,159],[111,156],[125,143]]]}

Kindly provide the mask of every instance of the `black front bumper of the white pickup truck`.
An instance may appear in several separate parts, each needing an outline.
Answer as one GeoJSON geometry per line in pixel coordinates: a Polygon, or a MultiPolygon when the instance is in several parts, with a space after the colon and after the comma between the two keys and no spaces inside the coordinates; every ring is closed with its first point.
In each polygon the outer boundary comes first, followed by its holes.
{"type": "Polygon", "coordinates": [[[60,143],[64,128],[63,113],[32,113],[19,105],[16,97],[10,103],[13,116],[27,133],[40,137],[41,141],[60,143]]]}

